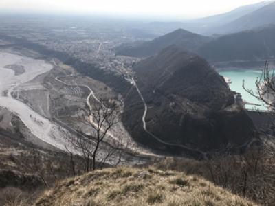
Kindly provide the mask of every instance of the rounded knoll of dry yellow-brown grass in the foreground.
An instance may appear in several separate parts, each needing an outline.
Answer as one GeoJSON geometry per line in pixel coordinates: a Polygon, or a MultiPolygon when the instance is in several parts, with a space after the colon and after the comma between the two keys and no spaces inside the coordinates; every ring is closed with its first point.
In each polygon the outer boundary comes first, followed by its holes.
{"type": "Polygon", "coordinates": [[[36,205],[255,205],[198,176],[155,168],[109,168],[57,183],[36,205]]]}

